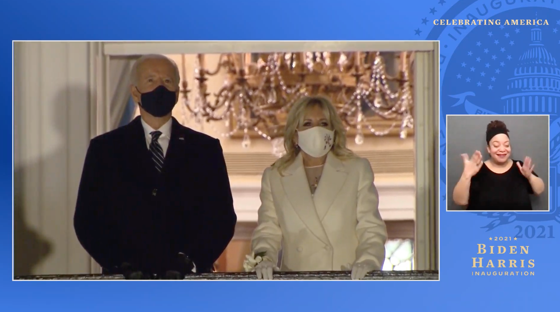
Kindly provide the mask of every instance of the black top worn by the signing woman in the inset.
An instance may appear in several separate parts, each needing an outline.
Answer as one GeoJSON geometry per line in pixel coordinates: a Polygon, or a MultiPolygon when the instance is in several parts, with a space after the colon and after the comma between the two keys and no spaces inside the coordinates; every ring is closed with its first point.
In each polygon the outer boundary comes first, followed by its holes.
{"type": "MultiPolygon", "coordinates": [[[[533,188],[521,174],[516,162],[514,160],[511,168],[501,174],[494,173],[483,164],[470,179],[469,204],[466,210],[533,210],[530,198],[533,188]]],[[[523,166],[523,162],[519,162],[523,166]]],[[[534,172],[533,174],[538,176],[534,172]]]]}

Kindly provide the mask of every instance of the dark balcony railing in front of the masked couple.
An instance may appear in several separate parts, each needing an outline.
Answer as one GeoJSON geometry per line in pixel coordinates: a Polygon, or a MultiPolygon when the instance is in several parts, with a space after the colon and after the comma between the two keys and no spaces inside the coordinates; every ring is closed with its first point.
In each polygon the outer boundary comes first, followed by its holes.
{"type": "MultiPolygon", "coordinates": [[[[375,271],[364,280],[439,280],[438,271],[375,271]]],[[[350,280],[348,271],[274,272],[274,280],[350,280]]],[[[124,280],[122,275],[32,275],[16,276],[14,280],[124,280]]],[[[255,273],[205,273],[192,274],[185,280],[256,280],[255,273]]]]}

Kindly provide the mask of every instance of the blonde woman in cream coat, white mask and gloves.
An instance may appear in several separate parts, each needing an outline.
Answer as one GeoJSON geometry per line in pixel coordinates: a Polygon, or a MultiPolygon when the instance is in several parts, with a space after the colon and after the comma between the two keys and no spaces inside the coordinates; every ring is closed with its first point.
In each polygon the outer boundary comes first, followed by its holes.
{"type": "Polygon", "coordinates": [[[277,271],[380,270],[386,227],[370,162],[346,148],[342,121],[323,97],[294,104],[284,133],[286,155],[264,170],[251,250],[244,267],[258,278],[277,271]]]}

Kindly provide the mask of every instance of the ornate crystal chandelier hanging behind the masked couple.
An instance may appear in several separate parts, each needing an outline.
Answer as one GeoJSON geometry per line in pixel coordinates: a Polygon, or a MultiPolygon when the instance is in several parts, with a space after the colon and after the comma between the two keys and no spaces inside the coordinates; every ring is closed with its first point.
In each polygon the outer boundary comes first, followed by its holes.
{"type": "Polygon", "coordinates": [[[250,146],[251,137],[271,140],[278,156],[286,114],[307,95],[328,96],[357,144],[363,143],[365,133],[396,132],[406,138],[413,129],[413,60],[414,52],[228,53],[210,70],[204,54],[197,54],[194,90],[184,80],[181,94],[196,123],[223,121],[228,131],[222,136],[242,136],[244,147],[250,146]],[[392,76],[387,57],[396,63],[392,76]],[[224,71],[226,81],[209,101],[207,81],[224,71]]]}

